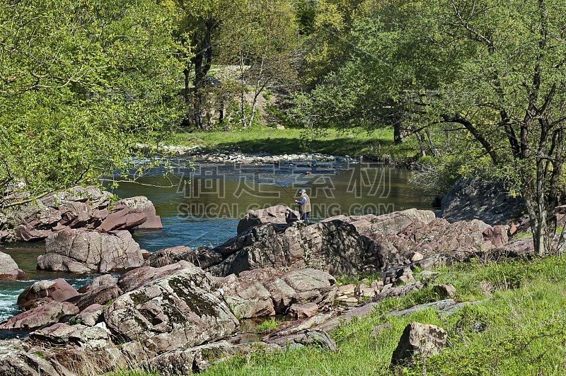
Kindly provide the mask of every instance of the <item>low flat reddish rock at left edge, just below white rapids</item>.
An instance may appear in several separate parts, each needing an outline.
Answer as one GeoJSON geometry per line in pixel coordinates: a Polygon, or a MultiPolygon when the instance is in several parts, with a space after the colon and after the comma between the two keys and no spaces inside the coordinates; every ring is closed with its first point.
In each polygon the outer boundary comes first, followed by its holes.
{"type": "Polygon", "coordinates": [[[0,329],[35,329],[55,324],[60,319],[79,313],[79,308],[69,302],[47,302],[33,310],[22,312],[0,324],[0,329]]]}

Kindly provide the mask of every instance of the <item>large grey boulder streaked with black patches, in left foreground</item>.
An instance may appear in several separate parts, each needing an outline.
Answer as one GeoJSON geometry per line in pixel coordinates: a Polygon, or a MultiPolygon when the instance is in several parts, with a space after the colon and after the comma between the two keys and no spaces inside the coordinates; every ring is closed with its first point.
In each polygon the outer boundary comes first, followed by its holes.
{"type": "Polygon", "coordinates": [[[238,319],[212,293],[211,277],[185,263],[183,269],[114,300],[104,311],[112,333],[125,341],[139,341],[154,353],[199,346],[232,334],[238,319]]]}

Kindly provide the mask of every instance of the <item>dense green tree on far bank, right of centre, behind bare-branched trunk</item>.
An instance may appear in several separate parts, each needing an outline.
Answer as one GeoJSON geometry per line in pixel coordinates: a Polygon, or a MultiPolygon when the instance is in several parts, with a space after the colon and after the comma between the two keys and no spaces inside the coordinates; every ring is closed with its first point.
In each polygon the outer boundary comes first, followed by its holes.
{"type": "Polygon", "coordinates": [[[347,59],[313,90],[296,95],[299,117],[310,118],[314,127],[393,127],[395,143],[406,131],[426,131],[412,97],[437,87],[422,58],[434,61],[440,52],[428,47],[434,18],[414,12],[403,1],[357,4],[347,32],[338,35],[347,41],[347,59]]]}

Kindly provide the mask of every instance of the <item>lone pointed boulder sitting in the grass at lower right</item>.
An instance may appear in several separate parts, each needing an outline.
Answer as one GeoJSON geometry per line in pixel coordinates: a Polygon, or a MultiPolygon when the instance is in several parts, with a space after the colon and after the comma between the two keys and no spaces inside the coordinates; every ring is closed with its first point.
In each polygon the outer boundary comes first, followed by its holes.
{"type": "Polygon", "coordinates": [[[428,358],[441,352],[446,344],[446,331],[436,325],[411,322],[403,330],[391,365],[405,365],[415,358],[428,358]]]}

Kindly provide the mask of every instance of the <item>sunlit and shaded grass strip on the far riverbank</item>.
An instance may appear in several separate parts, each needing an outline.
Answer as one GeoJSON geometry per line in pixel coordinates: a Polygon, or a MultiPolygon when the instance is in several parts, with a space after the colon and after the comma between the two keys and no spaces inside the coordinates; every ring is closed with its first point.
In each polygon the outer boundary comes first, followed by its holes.
{"type": "Polygon", "coordinates": [[[207,131],[175,134],[169,142],[181,146],[201,146],[204,149],[238,150],[243,153],[324,153],[331,155],[388,155],[407,158],[416,153],[414,138],[401,145],[393,143],[393,129],[365,131],[352,128],[347,131],[328,129],[314,135],[305,129],[276,129],[253,127],[231,131],[207,131]]]}

